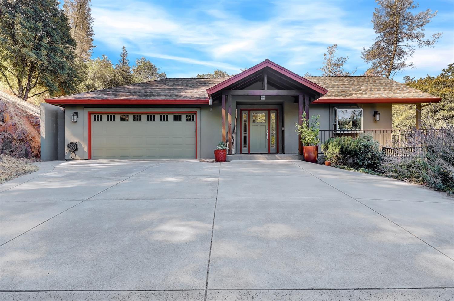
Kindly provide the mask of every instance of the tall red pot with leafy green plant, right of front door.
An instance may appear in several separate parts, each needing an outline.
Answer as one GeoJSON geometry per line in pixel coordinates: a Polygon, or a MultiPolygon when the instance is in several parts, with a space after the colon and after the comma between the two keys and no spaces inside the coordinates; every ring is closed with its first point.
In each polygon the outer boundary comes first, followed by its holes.
{"type": "Polygon", "coordinates": [[[301,115],[303,122],[301,125],[295,123],[296,133],[301,137],[303,143],[304,161],[317,163],[318,158],[318,138],[320,122],[318,119],[320,115],[312,115],[310,120],[306,120],[306,112],[301,115]]]}

